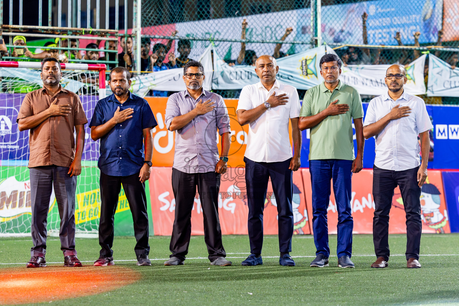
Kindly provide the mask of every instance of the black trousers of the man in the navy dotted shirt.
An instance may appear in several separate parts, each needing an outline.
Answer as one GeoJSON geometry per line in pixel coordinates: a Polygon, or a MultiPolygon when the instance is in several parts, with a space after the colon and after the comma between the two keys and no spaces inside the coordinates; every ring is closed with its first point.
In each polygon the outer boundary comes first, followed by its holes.
{"type": "Polygon", "coordinates": [[[137,244],[135,255],[149,254],[148,213],[146,211],[145,183],[140,183],[139,173],[129,176],[111,176],[101,172],[101,219],[99,221],[99,245],[103,256],[113,256],[113,225],[118,206],[118,195],[123,184],[124,193],[134,221],[134,236],[137,244]]]}

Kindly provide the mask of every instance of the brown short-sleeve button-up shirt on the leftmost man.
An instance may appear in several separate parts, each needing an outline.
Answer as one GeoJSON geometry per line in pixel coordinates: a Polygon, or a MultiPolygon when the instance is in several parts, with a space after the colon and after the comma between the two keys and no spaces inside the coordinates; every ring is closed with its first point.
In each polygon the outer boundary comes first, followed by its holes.
{"type": "Polygon", "coordinates": [[[62,86],[52,96],[45,88],[31,91],[24,97],[16,121],[47,110],[55,99],[57,105],[69,104],[70,113],[68,116],[51,116],[30,129],[29,168],[50,165],[70,167],[75,158],[75,126],[88,123],[77,94],[62,86]]]}

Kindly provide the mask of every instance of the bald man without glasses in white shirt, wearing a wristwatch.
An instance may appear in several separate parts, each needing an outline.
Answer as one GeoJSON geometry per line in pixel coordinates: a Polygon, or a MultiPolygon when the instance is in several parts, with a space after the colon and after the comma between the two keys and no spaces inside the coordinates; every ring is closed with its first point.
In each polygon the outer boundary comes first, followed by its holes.
{"type": "Polygon", "coordinates": [[[244,161],[251,254],[242,261],[243,266],[263,264],[263,208],[269,178],[277,202],[279,264],[295,266],[295,261],[289,255],[293,235],[292,171],[297,171],[300,167],[301,133],[298,128],[298,117],[301,105],[297,89],[276,80],[278,71],[279,67],[272,56],[260,56],[255,65],[260,82],[242,89],[237,106],[239,123],[249,125],[244,161]],[[293,156],[289,119],[292,127],[293,156]]]}

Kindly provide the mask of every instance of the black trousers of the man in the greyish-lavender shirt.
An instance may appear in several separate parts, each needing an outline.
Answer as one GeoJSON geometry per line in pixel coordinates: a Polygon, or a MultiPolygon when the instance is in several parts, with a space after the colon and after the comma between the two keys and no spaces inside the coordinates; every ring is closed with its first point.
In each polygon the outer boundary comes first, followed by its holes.
{"type": "Polygon", "coordinates": [[[226,257],[222,243],[222,230],[218,219],[218,191],[220,174],[216,172],[186,173],[172,168],[172,189],[175,197],[175,219],[172,228],[170,257],[185,260],[191,236],[191,211],[195,202],[196,187],[204,217],[204,241],[209,260],[226,257]]]}

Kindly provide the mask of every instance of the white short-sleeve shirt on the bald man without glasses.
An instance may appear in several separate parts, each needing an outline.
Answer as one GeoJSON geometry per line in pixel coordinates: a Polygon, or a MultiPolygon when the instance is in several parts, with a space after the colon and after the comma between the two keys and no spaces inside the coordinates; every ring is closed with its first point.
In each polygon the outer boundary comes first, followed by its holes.
{"type": "Polygon", "coordinates": [[[268,100],[269,96],[286,94],[285,105],[267,109],[255,121],[249,123],[247,147],[244,156],[257,162],[286,161],[292,157],[289,122],[300,114],[297,89],[291,85],[274,82],[267,90],[261,82],[246,85],[241,90],[237,110],[251,110],[268,100]]]}

